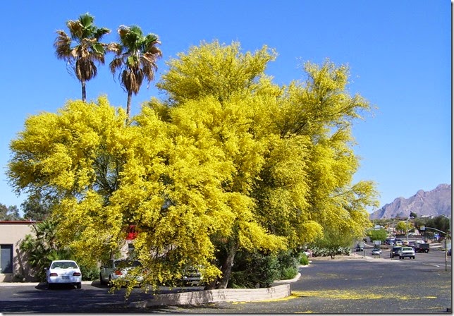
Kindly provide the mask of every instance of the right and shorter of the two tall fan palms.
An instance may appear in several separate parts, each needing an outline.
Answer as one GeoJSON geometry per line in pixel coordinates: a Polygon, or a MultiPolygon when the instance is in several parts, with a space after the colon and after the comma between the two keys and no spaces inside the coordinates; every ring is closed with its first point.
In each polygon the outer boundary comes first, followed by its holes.
{"type": "Polygon", "coordinates": [[[112,47],[116,54],[110,63],[112,74],[120,71],[118,79],[123,90],[128,92],[128,103],[126,104],[126,114],[130,115],[131,97],[140,90],[144,79],[148,83],[154,79],[157,71],[157,59],[162,56],[157,44],[161,44],[157,35],[149,34],[144,36],[138,26],[121,25],[118,28],[120,43],[112,47]]]}

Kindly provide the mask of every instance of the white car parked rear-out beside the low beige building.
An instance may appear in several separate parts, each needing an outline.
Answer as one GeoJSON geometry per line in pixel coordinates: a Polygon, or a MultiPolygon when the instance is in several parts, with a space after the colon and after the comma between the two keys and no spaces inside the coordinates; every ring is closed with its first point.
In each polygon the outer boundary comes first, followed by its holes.
{"type": "Polygon", "coordinates": [[[54,284],[71,284],[77,288],[82,287],[82,272],[73,260],[54,260],[46,269],[47,288],[54,284]]]}

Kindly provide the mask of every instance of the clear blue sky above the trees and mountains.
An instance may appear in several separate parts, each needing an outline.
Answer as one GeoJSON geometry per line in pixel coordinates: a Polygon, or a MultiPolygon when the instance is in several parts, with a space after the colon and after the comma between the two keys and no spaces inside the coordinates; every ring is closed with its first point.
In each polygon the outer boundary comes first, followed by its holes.
{"type": "MultiPolygon", "coordinates": [[[[56,30],[67,31],[66,20],[86,12],[98,27],[112,30],[106,42],[118,40],[119,25],[159,35],[164,56],[156,80],[166,60],[214,39],[238,41],[243,51],[276,49],[267,73],[278,84],[304,79],[305,61],[348,64],[350,92],[377,107],[354,128],[355,152],[362,157],[355,181],[375,181],[380,206],[451,183],[450,1],[17,0],[2,8],[1,204],[19,206],[26,198],[13,193],[4,171],[8,145],[27,116],[80,99],[80,83],[56,59],[53,43],[56,30]]],[[[99,95],[114,106],[126,104],[107,66],[87,83],[87,99],[99,95]]],[[[133,114],[153,96],[160,97],[154,83],[144,85],[133,96],[133,114]]]]}

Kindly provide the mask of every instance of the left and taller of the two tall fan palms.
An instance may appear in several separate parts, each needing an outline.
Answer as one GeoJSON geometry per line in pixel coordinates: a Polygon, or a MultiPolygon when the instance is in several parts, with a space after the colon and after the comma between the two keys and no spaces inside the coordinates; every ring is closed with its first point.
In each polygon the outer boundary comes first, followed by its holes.
{"type": "Polygon", "coordinates": [[[57,30],[58,36],[54,42],[57,58],[66,61],[80,81],[84,102],[87,98],[85,83],[98,72],[95,61],[104,64],[107,45],[99,40],[111,32],[108,28],[97,28],[93,21],[94,18],[89,13],[83,14],[78,20],[68,20],[66,26],[70,35],[63,30],[57,30]]]}

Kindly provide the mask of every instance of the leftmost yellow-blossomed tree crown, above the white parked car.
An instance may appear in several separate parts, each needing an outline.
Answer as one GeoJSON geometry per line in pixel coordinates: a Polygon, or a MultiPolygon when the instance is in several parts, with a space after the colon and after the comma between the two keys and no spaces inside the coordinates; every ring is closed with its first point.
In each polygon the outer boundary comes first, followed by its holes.
{"type": "Polygon", "coordinates": [[[121,183],[130,139],[137,137],[126,119],[105,97],[97,104],[70,101],[56,114],[28,117],[11,142],[11,185],[58,201],[52,215],[59,241],[85,254],[87,264],[109,259],[124,238],[123,214],[111,198],[121,183]]]}

